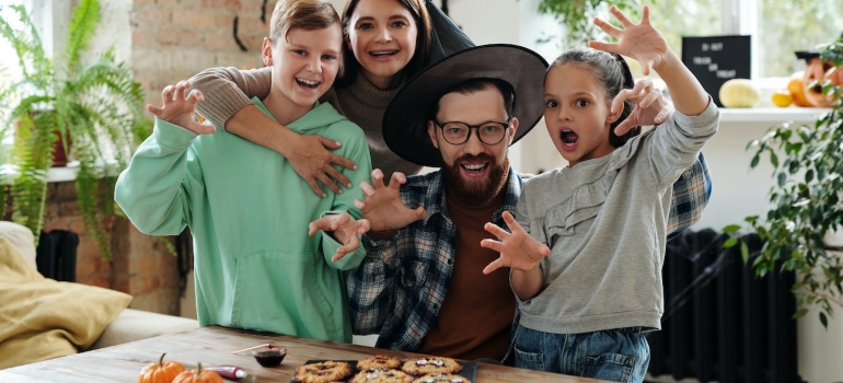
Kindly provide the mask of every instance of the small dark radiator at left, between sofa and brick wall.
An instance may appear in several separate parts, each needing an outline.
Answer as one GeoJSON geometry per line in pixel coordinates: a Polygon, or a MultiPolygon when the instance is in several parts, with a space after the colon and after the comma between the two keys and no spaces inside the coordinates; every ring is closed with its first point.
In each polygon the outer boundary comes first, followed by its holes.
{"type": "Polygon", "coordinates": [[[45,278],[65,282],[77,279],[79,235],[65,230],[42,232],[35,251],[35,264],[45,278]]]}

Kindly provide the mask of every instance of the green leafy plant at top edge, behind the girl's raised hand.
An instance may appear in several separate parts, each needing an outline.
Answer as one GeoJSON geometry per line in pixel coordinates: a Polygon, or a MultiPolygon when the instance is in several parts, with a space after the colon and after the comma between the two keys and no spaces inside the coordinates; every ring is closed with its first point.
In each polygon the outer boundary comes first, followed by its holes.
{"type": "MultiPolygon", "coordinates": [[[[640,8],[638,0],[540,0],[539,13],[550,14],[566,27],[567,34],[563,37],[566,46],[586,44],[589,39],[596,39],[600,28],[591,22],[594,16],[605,13],[609,7],[616,5],[627,15],[637,15],[640,8]]],[[[604,18],[605,19],[605,18],[604,18]]],[[[547,36],[541,42],[546,43],[557,36],[547,36]]]]}

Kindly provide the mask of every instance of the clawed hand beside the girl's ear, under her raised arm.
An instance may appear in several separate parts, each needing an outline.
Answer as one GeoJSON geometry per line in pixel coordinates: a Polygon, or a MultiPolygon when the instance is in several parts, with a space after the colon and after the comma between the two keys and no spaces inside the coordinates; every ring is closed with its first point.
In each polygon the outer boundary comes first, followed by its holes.
{"type": "Polygon", "coordinates": [[[612,100],[612,113],[622,108],[626,100],[632,101],[636,106],[633,113],[614,128],[614,134],[617,136],[625,135],[636,126],[665,123],[668,115],[673,112],[673,105],[662,96],[660,90],[653,85],[650,78],[638,80],[633,89],[621,90],[612,100]]]}

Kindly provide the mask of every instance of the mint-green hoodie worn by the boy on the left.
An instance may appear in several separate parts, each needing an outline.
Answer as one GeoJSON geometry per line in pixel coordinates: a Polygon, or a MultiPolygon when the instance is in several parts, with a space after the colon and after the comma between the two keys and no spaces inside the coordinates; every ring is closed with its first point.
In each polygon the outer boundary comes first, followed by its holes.
{"type": "MultiPolygon", "coordinates": [[[[259,100],[254,104],[272,117],[259,100]]],[[[336,154],[353,185],[368,181],[371,160],[362,130],[316,103],[287,126],[343,142],[336,154]]],[[[335,341],[351,340],[339,270],[359,265],[362,246],[337,263],[339,244],[308,223],[325,213],[359,218],[359,187],[320,198],[279,153],[218,130],[197,136],[155,119],[155,128],[117,179],[115,200],[143,233],[194,237],[199,324],[335,341]]]]}

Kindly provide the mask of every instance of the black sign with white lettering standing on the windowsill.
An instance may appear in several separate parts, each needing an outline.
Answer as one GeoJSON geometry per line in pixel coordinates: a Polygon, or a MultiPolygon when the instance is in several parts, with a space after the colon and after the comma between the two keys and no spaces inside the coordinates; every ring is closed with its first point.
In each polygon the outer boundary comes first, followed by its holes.
{"type": "Polygon", "coordinates": [[[720,85],[731,79],[751,76],[750,36],[682,37],[682,62],[720,104],[720,85]]]}

